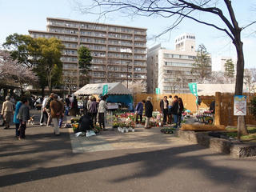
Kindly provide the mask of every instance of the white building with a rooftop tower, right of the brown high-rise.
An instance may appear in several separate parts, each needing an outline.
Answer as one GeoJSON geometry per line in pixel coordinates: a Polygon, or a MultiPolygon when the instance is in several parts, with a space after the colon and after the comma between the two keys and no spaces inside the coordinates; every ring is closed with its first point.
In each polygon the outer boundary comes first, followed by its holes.
{"type": "Polygon", "coordinates": [[[160,88],[164,93],[190,93],[188,83],[196,82],[191,74],[195,51],[194,34],[182,34],[175,38],[175,50],[166,50],[160,44],[148,50],[147,86],[149,93],[160,88]]]}

